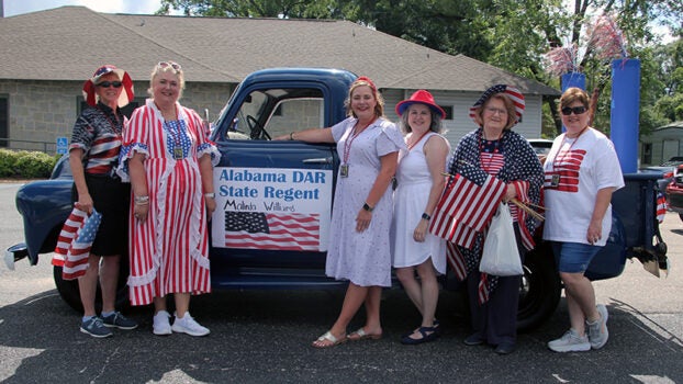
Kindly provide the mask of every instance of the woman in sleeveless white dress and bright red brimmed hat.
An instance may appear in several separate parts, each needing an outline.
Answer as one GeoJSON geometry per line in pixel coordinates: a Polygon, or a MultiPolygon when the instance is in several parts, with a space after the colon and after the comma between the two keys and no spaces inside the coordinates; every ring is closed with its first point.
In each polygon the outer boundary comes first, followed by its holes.
{"type": "Polygon", "coordinates": [[[446,273],[446,240],[428,233],[428,227],[444,191],[450,145],[440,135],[446,113],[432,93],[416,91],[396,104],[396,113],[401,116],[399,126],[406,134],[406,148],[399,153],[392,256],[396,276],[422,314],[421,326],[401,342],[418,345],[438,337],[438,321],[434,318],[439,295],[436,275],[446,273]]]}

